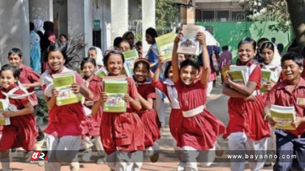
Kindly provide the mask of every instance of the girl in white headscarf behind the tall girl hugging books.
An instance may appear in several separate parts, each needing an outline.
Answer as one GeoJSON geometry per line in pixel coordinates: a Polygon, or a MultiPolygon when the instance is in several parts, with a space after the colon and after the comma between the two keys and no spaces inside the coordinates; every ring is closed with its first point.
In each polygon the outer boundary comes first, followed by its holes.
{"type": "MultiPolygon", "coordinates": [[[[262,84],[266,91],[272,89],[272,87],[279,81],[279,79],[283,79],[283,75],[281,74],[281,56],[278,53],[276,46],[271,41],[265,41],[260,46],[261,56],[263,58],[263,62],[259,63],[259,66],[262,69],[271,70],[271,80],[262,84]]],[[[263,93],[263,100],[266,100],[267,93],[263,93]]],[[[274,131],[271,130],[271,137],[267,138],[267,155],[273,155],[273,135],[274,131]]],[[[264,166],[273,165],[272,159],[266,159],[264,166]]]]}

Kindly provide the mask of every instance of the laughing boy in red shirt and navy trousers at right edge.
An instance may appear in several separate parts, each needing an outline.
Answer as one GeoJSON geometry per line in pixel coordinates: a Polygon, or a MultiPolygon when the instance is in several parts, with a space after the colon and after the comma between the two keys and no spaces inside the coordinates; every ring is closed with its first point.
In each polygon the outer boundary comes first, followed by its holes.
{"type": "Polygon", "coordinates": [[[271,117],[271,105],[294,106],[296,121],[291,122],[294,130],[276,129],[277,159],[273,170],[288,171],[293,166],[297,170],[305,169],[305,80],[303,58],[296,53],[287,53],[281,59],[282,73],[285,80],[278,83],[268,92],[264,108],[265,120],[275,126],[271,117]],[[282,157],[282,156],[285,156],[282,157]],[[296,155],[293,159],[292,155],[296,155]]]}

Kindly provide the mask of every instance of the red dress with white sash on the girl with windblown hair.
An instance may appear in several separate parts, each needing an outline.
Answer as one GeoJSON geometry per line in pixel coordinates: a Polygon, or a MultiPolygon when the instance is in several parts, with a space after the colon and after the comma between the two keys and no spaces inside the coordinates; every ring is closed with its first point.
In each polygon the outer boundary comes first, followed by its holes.
{"type": "MultiPolygon", "coordinates": [[[[60,73],[75,72],[66,67],[60,73]]],[[[41,75],[42,90],[45,96],[52,97],[52,70],[47,70],[41,75]]],[[[75,79],[79,85],[83,84],[81,76],[75,72],[75,79]]],[[[88,133],[91,128],[87,116],[85,116],[84,106],[81,102],[64,106],[55,105],[49,110],[49,121],[44,132],[56,137],[79,136],[88,133]]]]}

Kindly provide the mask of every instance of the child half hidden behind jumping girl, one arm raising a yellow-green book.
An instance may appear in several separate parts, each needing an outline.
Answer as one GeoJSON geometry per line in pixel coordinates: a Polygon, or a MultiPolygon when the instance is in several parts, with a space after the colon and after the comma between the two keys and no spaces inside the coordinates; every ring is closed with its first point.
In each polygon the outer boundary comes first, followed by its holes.
{"type": "Polygon", "coordinates": [[[171,61],[168,61],[164,72],[165,81],[163,82],[162,80],[159,80],[160,70],[164,63],[163,57],[160,55],[158,62],[159,62],[158,68],[156,69],[156,72],[152,78],[152,85],[155,86],[157,89],[161,90],[170,101],[170,106],[172,108],[170,111],[170,118],[169,118],[170,133],[173,136],[173,148],[180,161],[177,170],[182,171],[185,170],[185,161],[181,157],[182,148],[177,147],[177,140],[178,140],[178,128],[182,124],[183,115],[179,106],[178,93],[175,88],[175,84],[173,82],[173,67],[171,61]]]}

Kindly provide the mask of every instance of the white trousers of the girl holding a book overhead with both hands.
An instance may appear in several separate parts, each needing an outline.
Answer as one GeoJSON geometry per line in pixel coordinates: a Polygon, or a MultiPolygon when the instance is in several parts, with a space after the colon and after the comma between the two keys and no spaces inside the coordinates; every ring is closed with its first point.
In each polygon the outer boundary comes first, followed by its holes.
{"type": "Polygon", "coordinates": [[[185,171],[198,171],[197,162],[203,167],[210,166],[215,160],[215,146],[209,150],[196,150],[190,146],[182,147],[181,158],[186,162],[185,171]]]}

